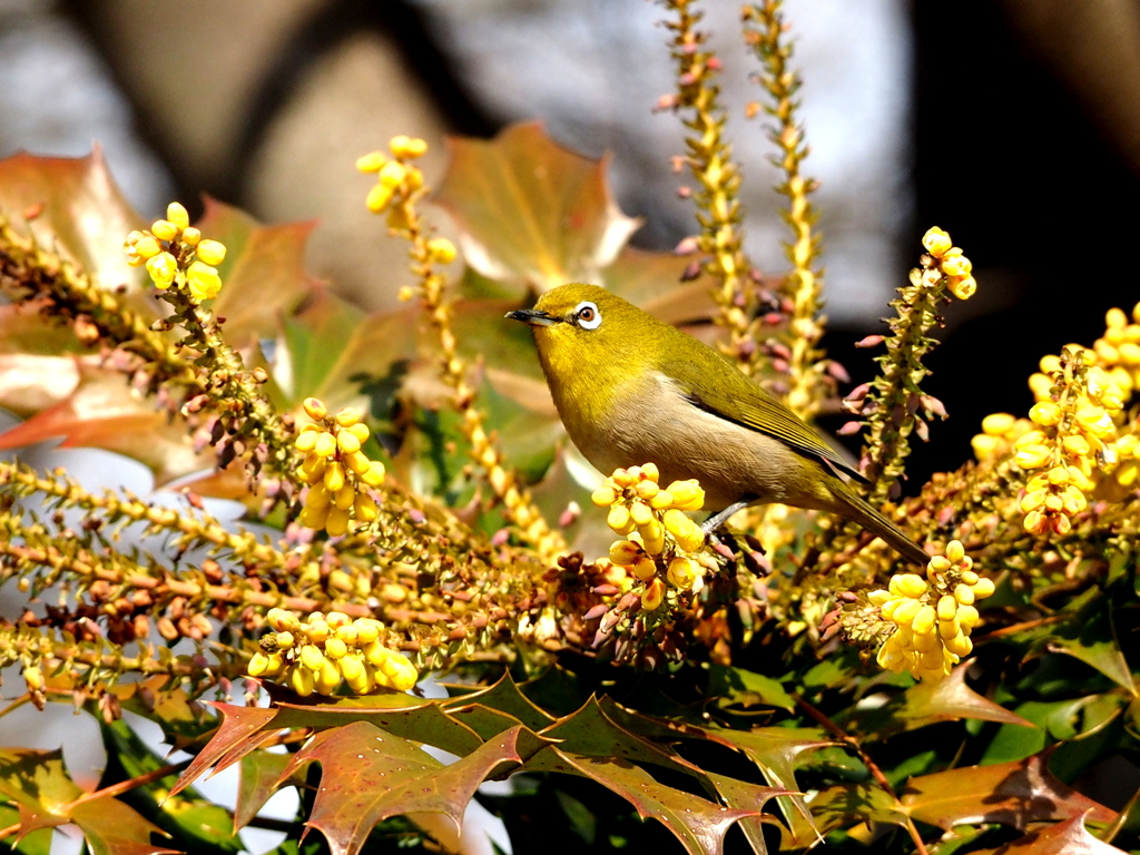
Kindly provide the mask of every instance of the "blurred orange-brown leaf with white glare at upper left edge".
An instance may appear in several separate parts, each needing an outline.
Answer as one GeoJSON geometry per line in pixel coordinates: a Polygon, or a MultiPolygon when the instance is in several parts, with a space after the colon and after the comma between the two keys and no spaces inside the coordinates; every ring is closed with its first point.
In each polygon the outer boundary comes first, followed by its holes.
{"type": "Polygon", "coordinates": [[[43,246],[63,250],[105,288],[138,288],[145,274],[127,263],[123,241],[146,223],[119,189],[103,152],[87,157],[17,154],[0,161],[0,214],[43,246]],[[28,223],[23,217],[35,214],[28,223]]]}

